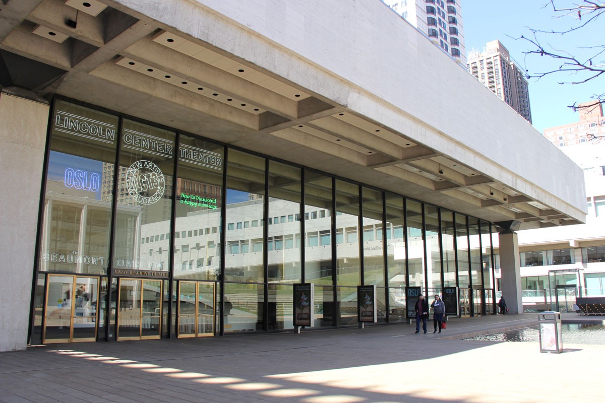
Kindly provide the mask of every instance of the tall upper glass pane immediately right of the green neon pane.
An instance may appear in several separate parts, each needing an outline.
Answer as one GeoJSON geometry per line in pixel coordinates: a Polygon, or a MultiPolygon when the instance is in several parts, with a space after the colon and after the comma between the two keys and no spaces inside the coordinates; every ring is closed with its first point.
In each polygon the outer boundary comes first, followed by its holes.
{"type": "MultiPolygon", "coordinates": [[[[265,160],[229,149],[227,154],[227,222],[263,219],[265,160]]],[[[263,239],[263,227],[227,231],[227,242],[263,239]]],[[[262,245],[255,245],[257,249],[262,245]]],[[[218,251],[217,251],[218,253],[218,251]]],[[[212,262],[214,264],[214,260],[212,262]]],[[[263,282],[263,251],[225,256],[225,279],[231,282],[263,282]]]]}

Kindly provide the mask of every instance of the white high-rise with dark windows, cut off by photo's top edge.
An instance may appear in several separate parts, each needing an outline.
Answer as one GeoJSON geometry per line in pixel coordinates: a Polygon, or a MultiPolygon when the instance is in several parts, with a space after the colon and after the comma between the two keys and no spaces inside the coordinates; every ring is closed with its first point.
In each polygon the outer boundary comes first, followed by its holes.
{"type": "Polygon", "coordinates": [[[382,0],[461,65],[466,64],[461,0],[382,0]]]}

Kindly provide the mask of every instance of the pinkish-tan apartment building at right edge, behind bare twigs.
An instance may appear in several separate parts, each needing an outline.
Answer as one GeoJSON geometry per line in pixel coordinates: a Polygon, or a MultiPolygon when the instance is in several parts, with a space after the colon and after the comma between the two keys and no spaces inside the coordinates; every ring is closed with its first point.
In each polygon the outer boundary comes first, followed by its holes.
{"type": "MultiPolygon", "coordinates": [[[[597,101],[581,103],[578,105],[578,114],[580,119],[575,123],[544,129],[544,137],[559,148],[587,143],[590,140],[598,143],[605,138],[603,105],[597,101]]],[[[580,163],[578,165],[581,166],[580,163]]],[[[605,175],[605,170],[603,172],[605,175]]]]}

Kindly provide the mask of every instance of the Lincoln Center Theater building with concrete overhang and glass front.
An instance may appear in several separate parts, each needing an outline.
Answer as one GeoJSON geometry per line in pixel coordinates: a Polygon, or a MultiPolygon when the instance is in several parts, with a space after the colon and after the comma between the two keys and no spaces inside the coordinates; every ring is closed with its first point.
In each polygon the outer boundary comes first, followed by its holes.
{"type": "Polygon", "coordinates": [[[0,350],[293,329],[299,283],[318,328],[358,286],[379,323],[414,287],[516,313],[515,229],[584,220],[581,169],[379,1],[59,3],[0,8],[0,350]]]}

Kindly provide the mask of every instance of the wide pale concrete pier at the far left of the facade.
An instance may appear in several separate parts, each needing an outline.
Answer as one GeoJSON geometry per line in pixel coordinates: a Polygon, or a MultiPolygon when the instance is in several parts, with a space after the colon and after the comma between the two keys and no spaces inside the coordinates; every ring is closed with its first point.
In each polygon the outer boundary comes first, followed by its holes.
{"type": "Polygon", "coordinates": [[[0,351],[27,346],[48,110],[0,92],[0,351]]]}

